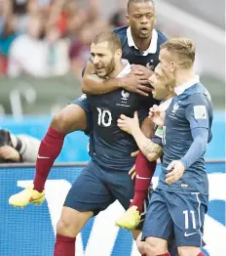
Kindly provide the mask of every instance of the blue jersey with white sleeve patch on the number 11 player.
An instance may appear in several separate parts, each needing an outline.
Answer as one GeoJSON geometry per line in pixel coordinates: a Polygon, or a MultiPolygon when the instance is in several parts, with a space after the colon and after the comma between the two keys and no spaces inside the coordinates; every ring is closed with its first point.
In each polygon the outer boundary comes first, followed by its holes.
{"type": "Polygon", "coordinates": [[[202,155],[173,184],[166,184],[167,167],[172,160],[181,159],[193,143],[192,129],[207,128],[211,137],[212,104],[207,89],[196,83],[174,97],[166,111],[164,126],[163,172],[159,189],[171,192],[208,193],[205,159],[202,155]]]}

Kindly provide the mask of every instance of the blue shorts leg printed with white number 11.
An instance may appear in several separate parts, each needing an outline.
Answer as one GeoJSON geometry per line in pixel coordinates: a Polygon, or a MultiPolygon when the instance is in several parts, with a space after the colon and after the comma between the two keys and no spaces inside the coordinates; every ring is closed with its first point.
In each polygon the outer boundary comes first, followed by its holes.
{"type": "Polygon", "coordinates": [[[165,192],[173,221],[176,246],[203,247],[207,196],[200,193],[165,192]]]}

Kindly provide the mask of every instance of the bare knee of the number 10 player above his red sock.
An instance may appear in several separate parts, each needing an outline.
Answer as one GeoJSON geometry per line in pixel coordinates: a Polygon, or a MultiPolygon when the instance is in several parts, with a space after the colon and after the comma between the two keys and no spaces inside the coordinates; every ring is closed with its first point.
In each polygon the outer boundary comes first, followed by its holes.
{"type": "Polygon", "coordinates": [[[60,219],[57,222],[57,234],[70,237],[78,235],[93,215],[92,211],[80,212],[63,206],[60,219]]]}

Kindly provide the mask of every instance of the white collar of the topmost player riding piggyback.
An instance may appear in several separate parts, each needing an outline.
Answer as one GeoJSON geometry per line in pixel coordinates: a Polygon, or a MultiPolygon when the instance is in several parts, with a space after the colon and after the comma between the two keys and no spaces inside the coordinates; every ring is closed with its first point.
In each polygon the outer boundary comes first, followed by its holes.
{"type": "MultiPolygon", "coordinates": [[[[131,29],[131,26],[128,27],[127,29],[127,37],[128,37],[128,45],[130,47],[134,47],[135,49],[139,50],[133,39],[132,39],[132,29],[131,29]]],[[[157,42],[158,42],[158,33],[156,31],[156,29],[153,28],[152,30],[152,38],[151,38],[151,43],[148,47],[148,49],[146,51],[143,51],[142,52],[142,56],[147,56],[148,54],[155,54],[156,51],[157,51],[157,42]]]]}

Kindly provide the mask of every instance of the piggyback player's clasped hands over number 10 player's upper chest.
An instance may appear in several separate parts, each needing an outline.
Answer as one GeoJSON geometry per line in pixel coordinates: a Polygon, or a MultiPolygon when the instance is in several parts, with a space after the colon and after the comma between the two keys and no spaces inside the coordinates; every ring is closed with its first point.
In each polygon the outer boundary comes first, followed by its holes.
{"type": "Polygon", "coordinates": [[[144,75],[135,75],[130,73],[121,78],[121,86],[132,93],[137,93],[142,96],[148,96],[152,89],[148,79],[144,75]]]}

